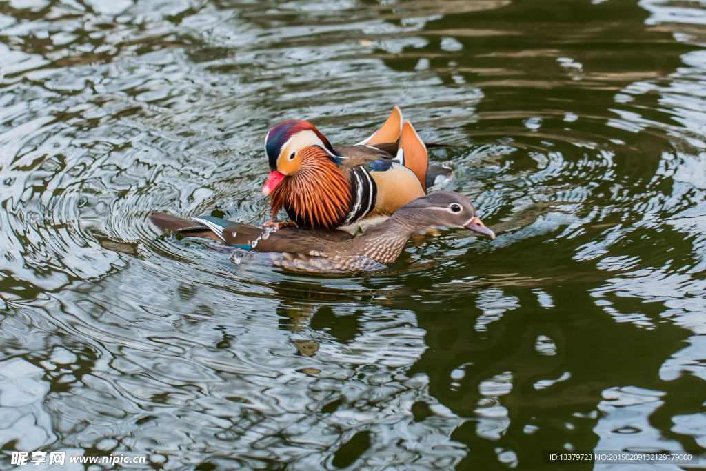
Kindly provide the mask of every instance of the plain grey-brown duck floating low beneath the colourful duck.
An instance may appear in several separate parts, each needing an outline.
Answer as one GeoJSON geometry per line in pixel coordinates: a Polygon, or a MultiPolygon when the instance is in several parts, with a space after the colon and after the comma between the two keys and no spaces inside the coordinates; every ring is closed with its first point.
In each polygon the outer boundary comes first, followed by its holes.
{"type": "Polygon", "coordinates": [[[161,229],[184,236],[205,237],[249,251],[278,253],[270,257],[275,266],[317,273],[384,268],[383,263],[397,259],[414,232],[434,226],[465,227],[495,238],[476,215],[473,203],[452,191],[417,198],[358,237],[337,229],[262,228],[212,216],[184,219],[154,213],[150,220],[161,229]]]}

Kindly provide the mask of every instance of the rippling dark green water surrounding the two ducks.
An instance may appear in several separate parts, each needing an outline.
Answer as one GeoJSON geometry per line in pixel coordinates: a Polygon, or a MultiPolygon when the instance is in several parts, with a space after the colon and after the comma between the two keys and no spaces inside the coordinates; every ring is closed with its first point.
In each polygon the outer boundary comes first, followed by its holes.
{"type": "Polygon", "coordinates": [[[705,2],[0,1],[0,74],[0,469],[706,467],[705,2]],[[323,277],[148,222],[263,222],[272,126],[394,105],[497,239],[323,277]]]}

